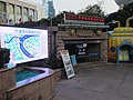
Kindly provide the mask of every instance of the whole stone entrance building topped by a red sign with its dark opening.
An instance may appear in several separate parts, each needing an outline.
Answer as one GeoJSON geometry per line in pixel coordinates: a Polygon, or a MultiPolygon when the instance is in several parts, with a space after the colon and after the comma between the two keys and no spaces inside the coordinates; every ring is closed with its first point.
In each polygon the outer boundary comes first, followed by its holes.
{"type": "Polygon", "coordinates": [[[108,33],[102,29],[109,26],[104,26],[104,18],[66,13],[64,23],[58,27],[55,47],[59,57],[61,50],[69,50],[78,63],[108,61],[108,33]]]}

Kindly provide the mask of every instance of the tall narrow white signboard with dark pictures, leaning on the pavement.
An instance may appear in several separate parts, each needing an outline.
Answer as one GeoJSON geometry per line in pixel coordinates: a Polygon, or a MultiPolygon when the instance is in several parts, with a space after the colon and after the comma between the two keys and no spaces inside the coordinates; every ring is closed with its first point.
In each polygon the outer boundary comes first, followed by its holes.
{"type": "Polygon", "coordinates": [[[74,74],[72,63],[71,63],[69,51],[68,50],[62,50],[61,51],[61,57],[62,57],[62,60],[63,60],[63,63],[64,63],[64,68],[65,68],[68,79],[74,77],[75,74],[74,74]]]}

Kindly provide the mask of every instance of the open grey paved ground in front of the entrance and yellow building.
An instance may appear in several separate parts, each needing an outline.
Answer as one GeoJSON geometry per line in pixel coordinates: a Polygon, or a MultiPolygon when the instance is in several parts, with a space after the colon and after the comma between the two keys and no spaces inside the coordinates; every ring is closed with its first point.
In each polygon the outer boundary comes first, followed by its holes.
{"type": "Polygon", "coordinates": [[[55,82],[52,100],[133,100],[133,63],[94,64],[80,64],[75,77],[55,82]]]}

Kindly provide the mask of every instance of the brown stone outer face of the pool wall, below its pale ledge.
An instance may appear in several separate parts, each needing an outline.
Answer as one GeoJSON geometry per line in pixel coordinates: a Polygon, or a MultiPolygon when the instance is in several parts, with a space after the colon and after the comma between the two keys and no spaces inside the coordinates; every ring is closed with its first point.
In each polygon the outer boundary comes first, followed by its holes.
{"type": "Polygon", "coordinates": [[[7,100],[50,100],[54,96],[53,76],[32,83],[10,89],[7,100]]]}

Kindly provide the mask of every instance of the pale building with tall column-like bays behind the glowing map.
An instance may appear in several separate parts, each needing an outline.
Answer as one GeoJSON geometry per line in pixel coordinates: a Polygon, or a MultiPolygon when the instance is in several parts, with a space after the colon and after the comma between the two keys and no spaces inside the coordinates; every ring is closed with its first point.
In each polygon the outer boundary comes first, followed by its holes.
{"type": "Polygon", "coordinates": [[[22,0],[0,0],[0,20],[3,24],[37,21],[37,4],[22,0]]]}

